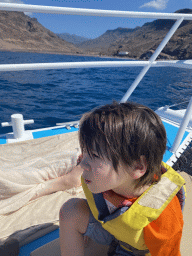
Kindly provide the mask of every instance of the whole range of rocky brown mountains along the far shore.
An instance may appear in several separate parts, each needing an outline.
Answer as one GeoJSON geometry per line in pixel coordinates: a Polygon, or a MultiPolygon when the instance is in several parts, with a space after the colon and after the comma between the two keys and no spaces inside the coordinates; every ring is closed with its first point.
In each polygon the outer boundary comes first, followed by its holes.
{"type": "MultiPolygon", "coordinates": [[[[177,13],[192,13],[192,9],[177,13]]],[[[174,22],[155,20],[142,27],[107,30],[96,39],[70,43],[69,35],[63,40],[22,12],[0,11],[0,50],[101,56],[120,56],[128,52],[129,58],[149,59],[174,22]]],[[[192,59],[192,21],[182,22],[159,58],[192,59]]]]}

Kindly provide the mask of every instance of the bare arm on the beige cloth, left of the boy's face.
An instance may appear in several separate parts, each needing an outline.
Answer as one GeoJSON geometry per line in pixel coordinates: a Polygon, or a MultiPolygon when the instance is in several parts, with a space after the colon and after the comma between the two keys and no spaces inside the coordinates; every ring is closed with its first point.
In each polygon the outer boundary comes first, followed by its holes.
{"type": "Polygon", "coordinates": [[[57,191],[64,191],[81,185],[81,174],[83,169],[80,165],[75,166],[70,173],[61,177],[48,180],[44,183],[44,187],[34,195],[31,200],[38,197],[49,195],[57,191]]]}

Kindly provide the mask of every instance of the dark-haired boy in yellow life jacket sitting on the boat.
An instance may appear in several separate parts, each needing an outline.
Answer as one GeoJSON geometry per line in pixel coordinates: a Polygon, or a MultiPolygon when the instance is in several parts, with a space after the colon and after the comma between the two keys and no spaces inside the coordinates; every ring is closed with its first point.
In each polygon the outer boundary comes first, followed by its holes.
{"type": "Polygon", "coordinates": [[[84,255],[86,236],[110,245],[108,255],[181,255],[185,181],[162,163],[166,131],[157,114],[114,102],[82,117],[79,140],[87,201],[61,208],[61,255],[84,255]]]}

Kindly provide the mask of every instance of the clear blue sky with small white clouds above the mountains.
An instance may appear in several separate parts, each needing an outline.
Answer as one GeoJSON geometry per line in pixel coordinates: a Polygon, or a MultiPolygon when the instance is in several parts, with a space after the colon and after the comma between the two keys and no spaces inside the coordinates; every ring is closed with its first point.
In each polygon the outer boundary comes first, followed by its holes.
{"type": "MultiPolygon", "coordinates": [[[[184,8],[192,9],[192,0],[0,0],[0,2],[158,13],[173,13],[176,10],[184,8]]],[[[102,35],[107,30],[118,27],[135,28],[136,26],[142,26],[144,23],[152,21],[148,19],[86,17],[40,13],[30,13],[29,16],[37,18],[44,27],[54,33],[69,33],[92,39],[102,35]]]]}

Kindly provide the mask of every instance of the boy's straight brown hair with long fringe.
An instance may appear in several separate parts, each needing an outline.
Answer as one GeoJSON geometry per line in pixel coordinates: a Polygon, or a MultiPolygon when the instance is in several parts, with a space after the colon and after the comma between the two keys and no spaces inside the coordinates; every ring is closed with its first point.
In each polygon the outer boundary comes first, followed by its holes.
{"type": "Polygon", "coordinates": [[[158,182],[161,161],[166,150],[166,131],[160,117],[150,108],[136,103],[113,102],[86,113],[80,120],[80,147],[112,161],[118,171],[119,161],[129,166],[145,156],[146,173],[135,188],[158,182]],[[154,179],[155,177],[155,179],[154,179]]]}

